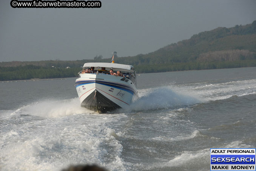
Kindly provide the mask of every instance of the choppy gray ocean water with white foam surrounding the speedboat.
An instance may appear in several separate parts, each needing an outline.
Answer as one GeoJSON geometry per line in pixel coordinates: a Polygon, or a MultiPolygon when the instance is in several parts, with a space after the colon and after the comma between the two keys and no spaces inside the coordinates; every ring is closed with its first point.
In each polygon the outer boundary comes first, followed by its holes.
{"type": "Polygon", "coordinates": [[[76,78],[0,82],[0,170],[208,171],[210,148],[256,147],[255,73],[139,74],[116,114],[81,108],[76,78]]]}

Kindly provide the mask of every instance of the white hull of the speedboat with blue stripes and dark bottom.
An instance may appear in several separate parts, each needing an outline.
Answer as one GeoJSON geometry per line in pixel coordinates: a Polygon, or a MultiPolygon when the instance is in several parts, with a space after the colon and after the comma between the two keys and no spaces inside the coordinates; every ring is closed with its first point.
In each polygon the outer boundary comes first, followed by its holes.
{"type": "Polygon", "coordinates": [[[80,74],[76,90],[80,104],[99,113],[111,113],[129,107],[137,98],[137,89],[130,79],[106,74],[80,74]]]}

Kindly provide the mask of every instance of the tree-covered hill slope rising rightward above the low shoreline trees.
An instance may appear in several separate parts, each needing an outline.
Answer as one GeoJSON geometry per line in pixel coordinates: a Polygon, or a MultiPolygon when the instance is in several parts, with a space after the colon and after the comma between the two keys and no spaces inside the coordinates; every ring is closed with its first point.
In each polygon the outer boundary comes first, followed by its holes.
{"type": "MultiPolygon", "coordinates": [[[[249,50],[256,52],[256,21],[245,26],[219,27],[193,35],[188,40],[179,41],[145,55],[125,57],[116,60],[129,64],[159,64],[194,62],[202,53],[222,50],[249,50]]],[[[256,59],[256,56],[255,56],[256,59]]]]}

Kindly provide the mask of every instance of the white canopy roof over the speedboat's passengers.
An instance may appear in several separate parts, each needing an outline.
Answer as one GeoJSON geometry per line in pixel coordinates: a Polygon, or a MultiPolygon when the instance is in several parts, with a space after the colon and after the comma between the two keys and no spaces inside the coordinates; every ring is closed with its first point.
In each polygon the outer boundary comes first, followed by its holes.
{"type": "Polygon", "coordinates": [[[106,70],[121,70],[121,71],[130,71],[134,69],[131,65],[125,64],[116,64],[116,63],[85,63],[83,67],[94,67],[94,69],[101,69],[101,67],[105,67],[106,70]]]}

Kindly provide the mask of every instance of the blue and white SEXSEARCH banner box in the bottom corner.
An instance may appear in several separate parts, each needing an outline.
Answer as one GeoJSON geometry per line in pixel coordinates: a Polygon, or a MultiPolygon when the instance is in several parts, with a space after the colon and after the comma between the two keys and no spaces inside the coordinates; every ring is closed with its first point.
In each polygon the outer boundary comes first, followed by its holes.
{"type": "Polygon", "coordinates": [[[255,148],[211,148],[211,171],[256,171],[255,148]]]}

